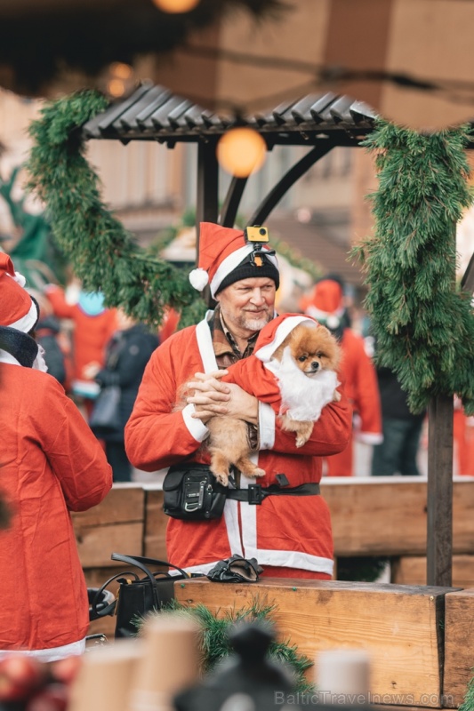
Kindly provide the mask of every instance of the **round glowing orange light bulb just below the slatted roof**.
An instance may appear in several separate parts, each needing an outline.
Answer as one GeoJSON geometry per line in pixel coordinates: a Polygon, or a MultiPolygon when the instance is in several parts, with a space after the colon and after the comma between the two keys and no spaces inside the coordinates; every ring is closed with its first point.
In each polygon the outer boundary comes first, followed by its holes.
{"type": "Polygon", "coordinates": [[[237,178],[246,178],[260,170],[267,144],[252,128],[233,128],[217,144],[217,160],[222,168],[237,178]]]}

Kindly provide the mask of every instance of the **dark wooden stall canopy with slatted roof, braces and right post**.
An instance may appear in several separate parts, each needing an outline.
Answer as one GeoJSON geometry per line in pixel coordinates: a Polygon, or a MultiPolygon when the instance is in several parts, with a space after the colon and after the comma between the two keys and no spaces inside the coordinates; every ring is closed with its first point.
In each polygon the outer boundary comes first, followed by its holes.
{"type": "MultiPolygon", "coordinates": [[[[257,132],[271,151],[274,146],[307,146],[308,152],[277,181],[249,225],[262,224],[285,193],[333,148],[360,146],[374,130],[376,115],[361,101],[331,92],[285,102],[268,112],[239,119],[257,132]]],[[[219,212],[219,166],[216,145],[235,125],[162,86],[141,84],[127,99],[110,105],[84,124],[87,140],[157,140],[168,148],[178,142],[197,144],[197,225],[201,221],[233,227],[246,178],[234,178],[219,212]]],[[[463,283],[474,282],[474,258],[463,283]]],[[[427,490],[427,582],[451,586],[453,550],[453,401],[436,397],[429,407],[427,490]]]]}

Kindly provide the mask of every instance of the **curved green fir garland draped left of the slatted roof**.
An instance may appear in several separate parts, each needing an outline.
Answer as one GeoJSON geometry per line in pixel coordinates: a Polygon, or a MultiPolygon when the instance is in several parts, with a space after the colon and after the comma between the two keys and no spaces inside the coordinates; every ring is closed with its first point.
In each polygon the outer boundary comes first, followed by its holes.
{"type": "Polygon", "coordinates": [[[29,188],[46,204],[53,235],[85,289],[100,289],[108,307],[122,306],[150,325],[161,323],[168,305],[181,312],[181,328],[195,324],[205,302],[188,276],[142,251],[100,200],[78,129],[107,105],[100,93],[87,91],[44,106],[29,130],[29,188]]]}

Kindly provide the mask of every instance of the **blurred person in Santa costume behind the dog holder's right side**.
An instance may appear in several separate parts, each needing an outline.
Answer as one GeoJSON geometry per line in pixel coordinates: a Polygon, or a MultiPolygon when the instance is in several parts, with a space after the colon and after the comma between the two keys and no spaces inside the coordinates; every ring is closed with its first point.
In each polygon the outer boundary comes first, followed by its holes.
{"type": "Polygon", "coordinates": [[[341,280],[326,276],[315,284],[309,297],[301,299],[301,310],[324,324],[339,340],[342,349],[341,378],[354,409],[354,433],[344,451],[329,457],[328,476],[353,474],[353,436],[359,442],[382,442],[382,409],[377,375],[366,353],[364,339],[349,327],[341,280]]]}

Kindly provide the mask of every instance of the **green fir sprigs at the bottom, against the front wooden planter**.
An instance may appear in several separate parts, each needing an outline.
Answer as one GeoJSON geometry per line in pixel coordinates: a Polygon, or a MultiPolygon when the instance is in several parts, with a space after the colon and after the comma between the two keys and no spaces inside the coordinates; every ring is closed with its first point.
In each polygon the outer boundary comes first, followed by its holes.
{"type": "MultiPolygon", "coordinates": [[[[262,604],[258,595],[246,607],[225,611],[220,617],[214,615],[202,603],[189,607],[173,600],[167,606],[166,611],[150,612],[147,618],[137,619],[136,625],[140,631],[143,622],[157,614],[160,616],[163,614],[181,615],[196,620],[200,629],[201,670],[205,675],[213,671],[216,665],[231,653],[228,638],[230,627],[238,622],[254,621],[268,622],[273,627],[273,614],[276,610],[276,604],[262,604]]],[[[305,655],[300,654],[295,645],[290,644],[288,640],[271,643],[269,659],[285,664],[293,670],[295,691],[309,694],[315,692],[314,684],[309,683],[305,676],[305,672],[313,666],[313,662],[305,655]]]]}

